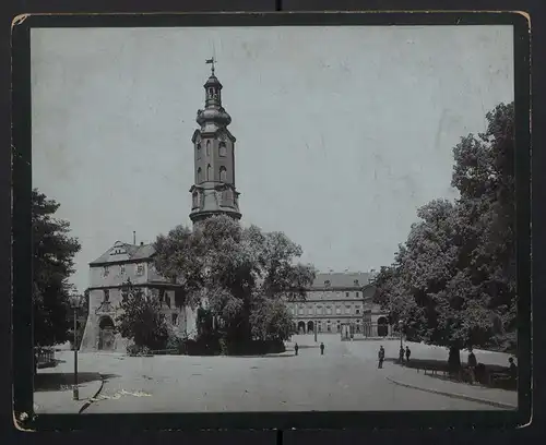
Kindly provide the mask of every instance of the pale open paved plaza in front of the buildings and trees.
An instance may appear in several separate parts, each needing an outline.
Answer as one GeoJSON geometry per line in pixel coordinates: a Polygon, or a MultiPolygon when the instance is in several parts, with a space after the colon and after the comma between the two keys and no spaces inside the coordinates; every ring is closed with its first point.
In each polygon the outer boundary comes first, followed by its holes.
{"type": "MultiPolygon", "coordinates": [[[[470,387],[434,378],[416,370],[387,361],[377,369],[377,350],[385,348],[387,359],[395,358],[400,342],[341,341],[336,335],[295,336],[282,354],[266,357],[156,356],[134,358],[123,354],[80,353],[82,375],[106,376],[103,383],[90,377],[84,382],[88,400],[72,401],[69,388],[36,392],[39,412],[84,414],[123,412],[233,412],[233,411],[333,411],[333,410],[491,410],[498,406],[447,397],[412,386],[448,387],[449,392],[474,398],[517,405],[517,394],[501,389],[470,387]],[[299,354],[293,350],[294,340],[299,354]],[[318,345],[325,345],[324,356],[318,345]],[[450,387],[451,385],[451,387],[450,387]],[[64,389],[64,390],[62,390],[64,389]],[[79,405],[78,405],[79,404],[79,405]]],[[[408,344],[412,357],[446,359],[444,348],[408,344]]],[[[506,364],[506,354],[476,353],[479,361],[506,364]]],[[[70,375],[73,353],[57,352],[61,362],[38,373],[70,375]]],[[[465,360],[465,354],[462,353],[465,360]]]]}

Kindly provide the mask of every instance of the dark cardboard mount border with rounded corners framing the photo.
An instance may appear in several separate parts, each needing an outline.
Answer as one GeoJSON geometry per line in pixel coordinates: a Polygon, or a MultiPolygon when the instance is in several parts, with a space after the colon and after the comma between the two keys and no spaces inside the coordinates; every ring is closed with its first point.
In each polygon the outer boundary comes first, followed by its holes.
{"type": "Polygon", "coordinates": [[[271,12],[176,14],[28,14],[12,25],[12,345],[14,416],[25,430],[218,430],[513,428],[531,418],[531,182],[530,23],[518,12],[271,12]],[[32,330],[32,100],[31,29],[45,27],[512,25],[514,55],[518,410],[307,411],[229,413],[35,414],[32,330]],[[523,147],[519,148],[518,147],[523,147]],[[112,418],[114,417],[114,418],[112,418]]]}

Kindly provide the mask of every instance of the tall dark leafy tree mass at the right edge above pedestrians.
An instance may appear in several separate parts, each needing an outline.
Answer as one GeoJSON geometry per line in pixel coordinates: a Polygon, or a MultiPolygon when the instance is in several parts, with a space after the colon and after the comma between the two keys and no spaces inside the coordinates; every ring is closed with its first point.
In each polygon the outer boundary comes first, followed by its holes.
{"type": "Polygon", "coordinates": [[[487,113],[486,133],[463,137],[454,149],[455,203],[420,207],[391,266],[375,282],[377,300],[408,337],[450,348],[514,347],[515,257],[513,108],[487,113]]]}

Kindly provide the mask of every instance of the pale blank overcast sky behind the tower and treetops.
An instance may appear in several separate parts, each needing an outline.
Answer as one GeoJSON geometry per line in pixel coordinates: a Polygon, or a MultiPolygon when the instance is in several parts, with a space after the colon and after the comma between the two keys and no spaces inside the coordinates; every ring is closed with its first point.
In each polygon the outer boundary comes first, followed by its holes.
{"type": "Polygon", "coordinates": [[[81,291],[115,241],[190,225],[213,50],[244,224],[324,272],[390,264],[456,196],[452,147],[513,100],[510,26],[33,29],[34,187],[82,243],[81,291]]]}

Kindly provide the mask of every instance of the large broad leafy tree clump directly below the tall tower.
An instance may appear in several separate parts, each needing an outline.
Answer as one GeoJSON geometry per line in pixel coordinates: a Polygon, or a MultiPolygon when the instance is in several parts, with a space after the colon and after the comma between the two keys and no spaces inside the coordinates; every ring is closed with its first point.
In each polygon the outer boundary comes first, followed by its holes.
{"type": "Polygon", "coordinates": [[[155,249],[158,273],[181,286],[190,305],[210,311],[227,342],[287,338],[278,303],[305,299],[314,278],[311,266],[296,263],[301,248],[284,233],[242,228],[227,216],[193,231],[178,226],[157,237],[155,249]]]}

